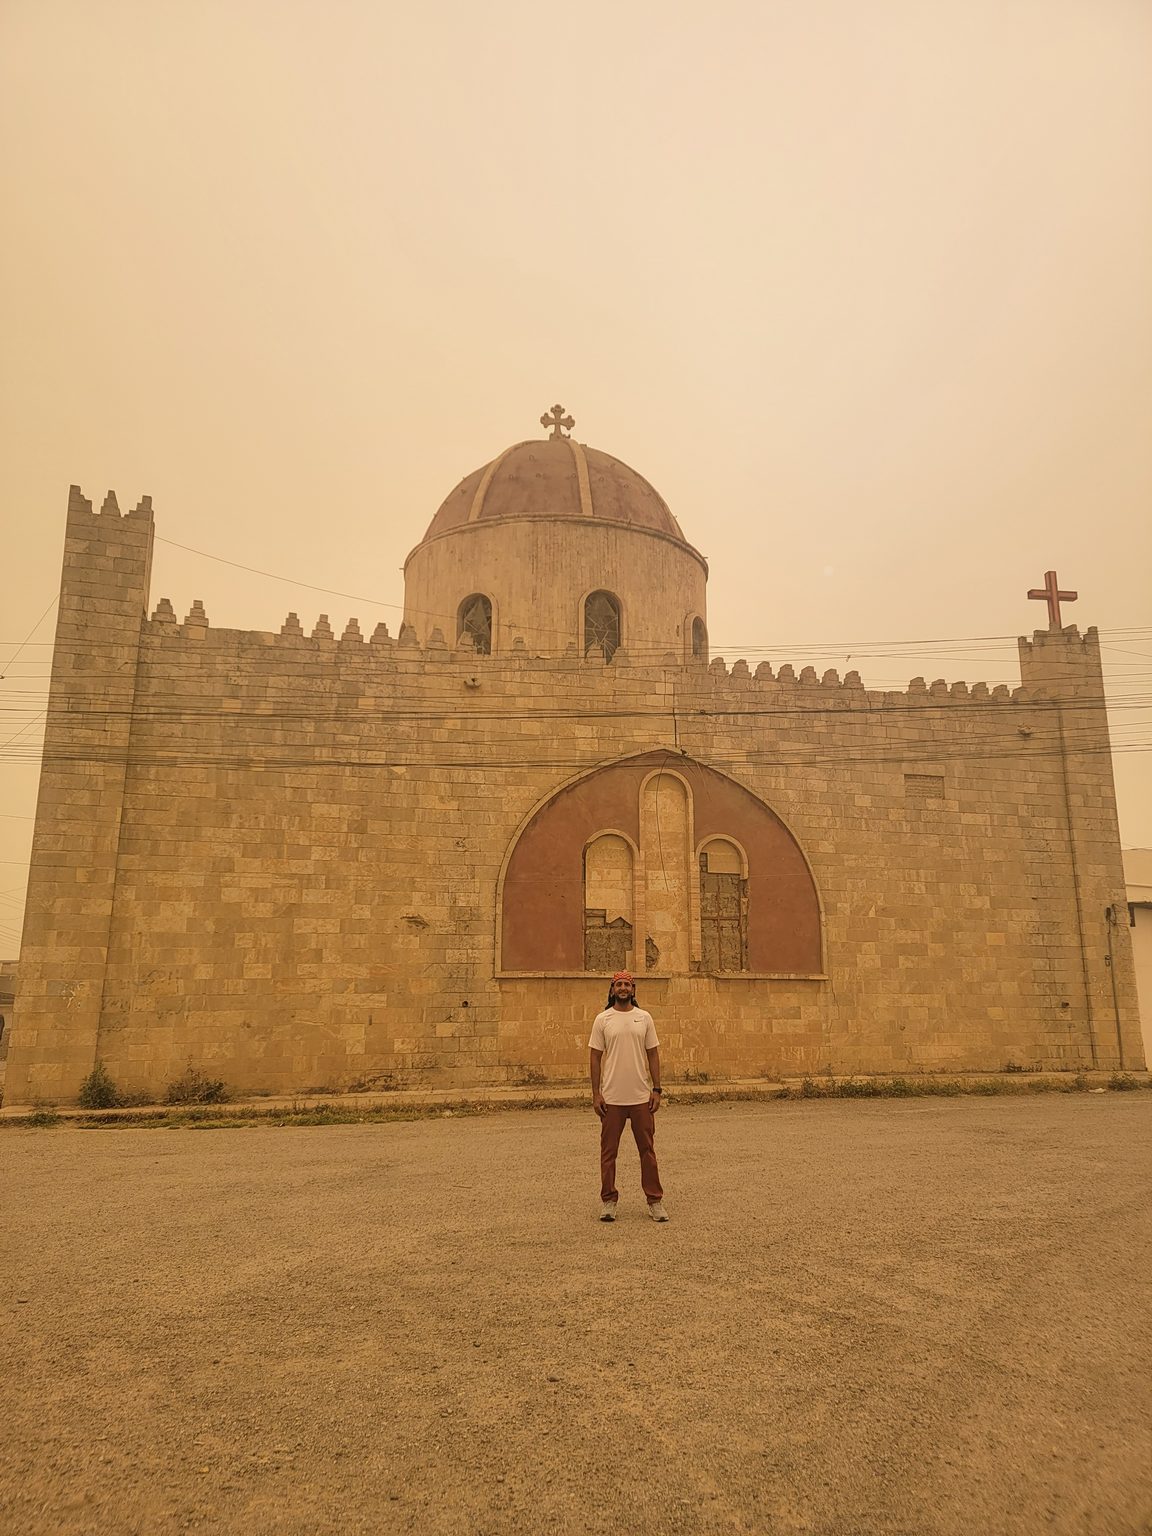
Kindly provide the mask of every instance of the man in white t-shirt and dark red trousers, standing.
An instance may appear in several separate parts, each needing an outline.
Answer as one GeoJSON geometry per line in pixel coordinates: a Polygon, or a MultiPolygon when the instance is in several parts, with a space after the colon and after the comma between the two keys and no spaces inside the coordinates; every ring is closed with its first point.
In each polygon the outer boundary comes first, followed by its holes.
{"type": "Polygon", "coordinates": [[[601,1221],[616,1220],[616,1152],[631,1121],[641,1154],[641,1184],[653,1221],[667,1221],[656,1167],[656,1111],[660,1107],[660,1041],[651,1014],[636,1006],[631,972],[617,971],[608,1008],[596,1015],[588,1041],[591,1107],[601,1117],[601,1221]]]}

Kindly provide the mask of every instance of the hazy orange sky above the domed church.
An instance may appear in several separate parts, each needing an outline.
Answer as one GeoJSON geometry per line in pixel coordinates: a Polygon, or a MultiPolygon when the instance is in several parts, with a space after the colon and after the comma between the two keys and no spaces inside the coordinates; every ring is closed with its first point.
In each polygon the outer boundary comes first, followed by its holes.
{"type": "Polygon", "coordinates": [[[180,616],[395,631],[553,401],[728,660],[1015,685],[1055,567],[1152,846],[1147,0],[3,0],[0,134],[0,955],[69,482],[364,599],[160,542],[180,616]]]}

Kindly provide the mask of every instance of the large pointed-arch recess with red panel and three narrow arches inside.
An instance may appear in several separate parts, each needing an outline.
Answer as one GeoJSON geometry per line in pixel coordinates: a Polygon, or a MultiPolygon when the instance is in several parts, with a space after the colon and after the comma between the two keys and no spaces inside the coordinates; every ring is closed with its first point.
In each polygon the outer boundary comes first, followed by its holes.
{"type": "Polygon", "coordinates": [[[502,975],[823,971],[820,902],[790,829],[673,753],[598,768],[542,805],[508,854],[498,915],[502,975]]]}

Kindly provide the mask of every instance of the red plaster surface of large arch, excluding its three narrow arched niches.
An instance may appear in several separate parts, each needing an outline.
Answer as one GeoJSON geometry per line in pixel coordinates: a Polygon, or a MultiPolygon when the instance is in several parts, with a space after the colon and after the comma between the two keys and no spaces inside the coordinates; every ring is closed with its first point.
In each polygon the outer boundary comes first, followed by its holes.
{"type": "MultiPolygon", "coordinates": [[[[641,834],[642,786],[657,770],[674,771],[691,796],[690,857],[699,857],[714,839],[727,839],[742,852],[748,888],[745,974],[820,975],[820,902],[808,860],[788,826],[734,779],[667,751],[644,753],[584,774],[558,790],[522,825],[505,856],[498,889],[498,971],[587,972],[584,849],[611,828],[639,851],[645,882],[651,877],[653,852],[641,834]]],[[[659,857],[659,839],[656,849],[659,857]]],[[[630,969],[676,974],[679,965],[648,968],[641,958],[650,932],[647,914],[639,908],[648,895],[641,902],[639,879],[636,889],[636,963],[630,969]]],[[[702,968],[696,955],[690,955],[688,965],[702,968]]]]}

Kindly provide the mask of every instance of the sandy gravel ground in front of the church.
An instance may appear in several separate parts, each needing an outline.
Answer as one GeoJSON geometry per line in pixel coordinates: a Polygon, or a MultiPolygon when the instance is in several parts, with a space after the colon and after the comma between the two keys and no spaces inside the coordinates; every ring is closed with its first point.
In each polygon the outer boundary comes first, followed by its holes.
{"type": "Polygon", "coordinates": [[[1152,1095],[6,1130],[0,1530],[1152,1531],[1152,1095]]]}

